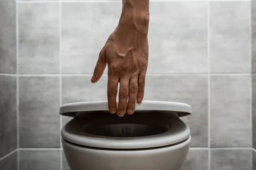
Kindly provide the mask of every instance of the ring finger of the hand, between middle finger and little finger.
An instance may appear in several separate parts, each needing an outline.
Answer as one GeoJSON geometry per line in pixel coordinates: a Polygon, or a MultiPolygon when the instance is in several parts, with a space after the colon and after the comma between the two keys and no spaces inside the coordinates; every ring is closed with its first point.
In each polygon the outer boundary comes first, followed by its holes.
{"type": "Polygon", "coordinates": [[[138,77],[132,77],[129,85],[129,99],[127,104],[127,113],[133,114],[135,111],[136,97],[138,91],[138,77]]]}

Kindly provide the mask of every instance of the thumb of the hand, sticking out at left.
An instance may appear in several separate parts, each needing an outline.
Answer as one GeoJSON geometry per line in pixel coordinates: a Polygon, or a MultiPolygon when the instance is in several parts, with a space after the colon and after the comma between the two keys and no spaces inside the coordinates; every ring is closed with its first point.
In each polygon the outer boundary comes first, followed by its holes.
{"type": "Polygon", "coordinates": [[[93,77],[91,78],[92,83],[96,83],[102,77],[102,74],[107,66],[107,62],[105,59],[105,51],[100,51],[99,59],[94,68],[93,77]]]}

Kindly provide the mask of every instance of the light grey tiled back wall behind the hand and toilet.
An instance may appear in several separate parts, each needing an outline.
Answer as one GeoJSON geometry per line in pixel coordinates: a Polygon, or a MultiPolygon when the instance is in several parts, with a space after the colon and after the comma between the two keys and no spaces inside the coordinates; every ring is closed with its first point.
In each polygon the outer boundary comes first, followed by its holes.
{"type": "MultiPolygon", "coordinates": [[[[69,119],[59,116],[58,108],[68,102],[107,99],[107,76],[96,84],[90,83],[90,77],[99,51],[118,23],[122,3],[16,3],[18,169],[68,170],[59,133],[69,119]]],[[[255,59],[250,52],[250,8],[248,0],[150,3],[145,99],[192,105],[192,116],[183,118],[192,130],[183,170],[252,169],[251,64],[255,59]]],[[[12,63],[11,58],[6,63],[12,63]]],[[[10,71],[6,65],[0,68],[10,71]]],[[[15,76],[9,74],[16,70],[1,73],[12,79],[15,76]]]]}

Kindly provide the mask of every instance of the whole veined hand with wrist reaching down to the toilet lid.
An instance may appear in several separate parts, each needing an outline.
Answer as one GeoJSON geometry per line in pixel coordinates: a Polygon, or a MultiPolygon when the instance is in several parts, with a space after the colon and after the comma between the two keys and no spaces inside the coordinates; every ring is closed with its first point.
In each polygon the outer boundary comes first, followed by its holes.
{"type": "Polygon", "coordinates": [[[136,100],[139,103],[143,100],[148,66],[148,23],[148,0],[123,0],[119,24],[99,53],[91,82],[102,77],[108,64],[108,108],[118,116],[124,116],[125,112],[133,114],[136,100]]]}

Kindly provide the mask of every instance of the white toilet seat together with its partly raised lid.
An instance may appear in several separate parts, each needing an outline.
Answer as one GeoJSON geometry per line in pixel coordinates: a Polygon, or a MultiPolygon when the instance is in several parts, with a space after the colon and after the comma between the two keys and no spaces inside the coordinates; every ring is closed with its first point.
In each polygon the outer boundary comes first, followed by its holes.
{"type": "Polygon", "coordinates": [[[133,115],[118,117],[108,113],[106,101],[70,103],[61,106],[60,114],[75,118],[62,128],[61,136],[72,144],[106,149],[169,146],[189,139],[189,127],[178,117],[189,115],[191,112],[191,107],[183,103],[143,101],[136,105],[133,115]],[[148,130],[158,129],[158,133],[148,136],[113,137],[95,134],[90,130],[101,128],[98,130],[100,132],[109,128],[115,131],[116,127],[120,127],[119,130],[132,131],[136,130],[136,126],[143,126],[148,130]]]}

